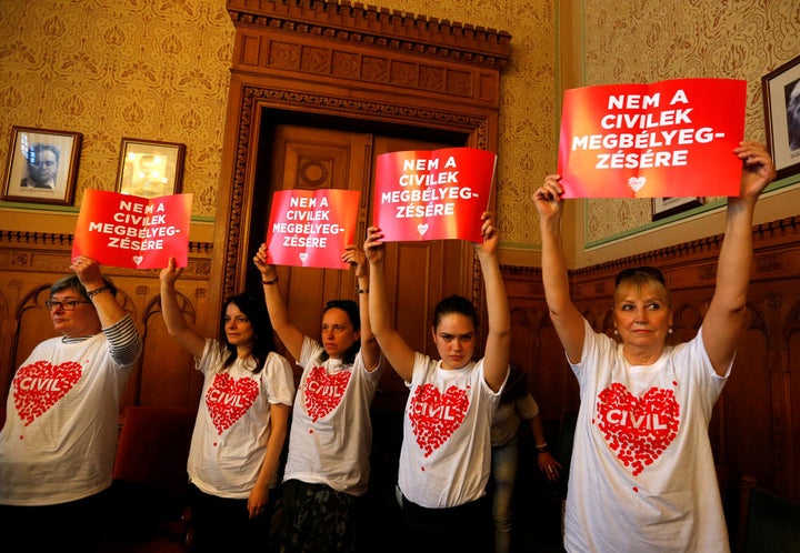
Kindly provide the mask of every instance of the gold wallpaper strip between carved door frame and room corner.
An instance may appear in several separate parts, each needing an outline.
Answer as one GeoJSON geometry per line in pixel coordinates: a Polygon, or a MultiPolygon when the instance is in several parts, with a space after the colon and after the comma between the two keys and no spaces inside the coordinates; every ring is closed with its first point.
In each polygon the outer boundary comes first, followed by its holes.
{"type": "Polygon", "coordinates": [[[511,62],[500,81],[497,218],[502,242],[539,242],[533,189],[556,168],[556,2],[553,0],[383,0],[381,7],[503,30],[511,62]]]}

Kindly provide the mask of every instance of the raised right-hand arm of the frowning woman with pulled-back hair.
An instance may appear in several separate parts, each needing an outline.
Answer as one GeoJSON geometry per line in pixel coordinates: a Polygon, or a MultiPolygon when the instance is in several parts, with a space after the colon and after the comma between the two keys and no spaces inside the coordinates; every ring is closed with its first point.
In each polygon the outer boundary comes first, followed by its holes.
{"type": "Polygon", "coordinates": [[[483,273],[489,314],[487,343],[483,351],[483,378],[493,391],[500,390],[509,371],[511,355],[511,311],[497,258],[498,232],[491,213],[481,215],[483,242],[474,244],[483,273]]]}

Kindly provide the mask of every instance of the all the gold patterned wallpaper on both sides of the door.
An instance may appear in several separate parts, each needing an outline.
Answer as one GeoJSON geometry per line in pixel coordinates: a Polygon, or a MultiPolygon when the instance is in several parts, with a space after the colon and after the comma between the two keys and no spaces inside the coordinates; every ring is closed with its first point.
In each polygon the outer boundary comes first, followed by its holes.
{"type": "MultiPolygon", "coordinates": [[[[381,8],[503,30],[498,219],[537,249],[530,194],[556,167],[558,9],[580,11],[586,84],[747,79],[747,134],[764,139],[761,76],[800,53],[797,0],[381,0],[381,8]]],[[[113,190],[122,137],[187,144],[193,215],[216,214],[233,24],[224,0],[0,0],[0,168],[12,125],[82,132],[76,203],[113,190]]],[[[0,205],[0,210],[2,205],[0,205]]],[[[650,221],[647,200],[586,205],[584,240],[650,221]]],[[[581,244],[578,244],[579,247],[581,244]]]]}

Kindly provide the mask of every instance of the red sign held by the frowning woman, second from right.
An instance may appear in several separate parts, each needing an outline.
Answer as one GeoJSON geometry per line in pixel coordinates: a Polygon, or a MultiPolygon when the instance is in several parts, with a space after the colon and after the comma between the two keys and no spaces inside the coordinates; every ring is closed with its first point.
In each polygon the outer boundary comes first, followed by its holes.
{"type": "Polygon", "coordinates": [[[378,155],[373,220],[383,240],[480,242],[497,154],[476,148],[378,155]]]}

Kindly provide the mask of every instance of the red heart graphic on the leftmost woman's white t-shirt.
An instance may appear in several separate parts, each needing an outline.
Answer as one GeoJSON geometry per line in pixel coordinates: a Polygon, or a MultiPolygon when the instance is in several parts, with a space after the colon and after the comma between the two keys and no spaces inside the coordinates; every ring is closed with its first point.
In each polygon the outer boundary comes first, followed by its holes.
{"type": "Polygon", "coordinates": [[[81,364],[74,361],[59,365],[37,361],[32,365],[21,366],[13,379],[13,398],[24,425],[47,413],[72,390],[82,374],[81,364]]]}

